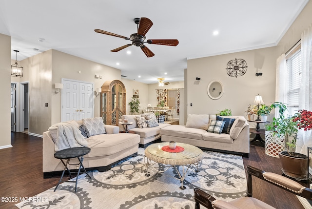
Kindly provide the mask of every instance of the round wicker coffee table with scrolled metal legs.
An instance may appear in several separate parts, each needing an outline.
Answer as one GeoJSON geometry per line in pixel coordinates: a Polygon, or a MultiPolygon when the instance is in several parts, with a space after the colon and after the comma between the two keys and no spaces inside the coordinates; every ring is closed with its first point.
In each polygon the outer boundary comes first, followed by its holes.
{"type": "MultiPolygon", "coordinates": [[[[170,152],[175,150],[168,150],[164,151],[163,148],[166,148],[168,146],[168,142],[162,142],[162,143],[156,143],[148,146],[145,149],[145,157],[144,162],[146,165],[146,176],[149,176],[148,169],[152,167],[157,172],[163,173],[170,167],[174,167],[176,169],[177,174],[179,175],[179,178],[176,178],[181,181],[181,189],[185,189],[186,187],[183,185],[183,181],[186,177],[186,174],[189,170],[189,168],[192,165],[195,165],[196,169],[195,172],[198,172],[198,165],[201,162],[203,158],[203,152],[201,149],[199,149],[196,146],[188,145],[184,143],[176,143],[176,149],[182,148],[183,151],[179,152],[170,152]],[[153,161],[153,162],[152,162],[153,161]],[[168,165],[165,167],[164,170],[158,170],[154,167],[156,163],[161,163],[168,165]],[[177,169],[176,166],[182,167],[182,173],[177,169]]],[[[178,151],[178,150],[176,150],[178,151]]],[[[172,176],[171,176],[172,177],[172,176]]]]}

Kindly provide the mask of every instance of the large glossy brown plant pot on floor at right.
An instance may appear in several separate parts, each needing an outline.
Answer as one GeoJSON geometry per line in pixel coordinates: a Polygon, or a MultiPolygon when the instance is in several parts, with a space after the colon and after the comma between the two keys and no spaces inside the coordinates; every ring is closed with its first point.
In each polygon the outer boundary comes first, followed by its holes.
{"type": "Polygon", "coordinates": [[[307,180],[308,156],[297,152],[291,152],[291,154],[287,151],[279,153],[283,173],[299,181],[307,180]]]}

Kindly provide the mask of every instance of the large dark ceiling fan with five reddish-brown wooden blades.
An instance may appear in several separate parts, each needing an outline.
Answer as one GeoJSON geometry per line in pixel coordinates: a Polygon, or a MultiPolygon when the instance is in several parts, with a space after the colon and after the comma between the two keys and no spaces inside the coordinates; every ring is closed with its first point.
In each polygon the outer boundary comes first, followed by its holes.
{"type": "Polygon", "coordinates": [[[152,27],[153,22],[148,18],[135,18],[133,21],[137,24],[137,33],[131,34],[130,38],[100,29],[95,29],[94,31],[97,33],[102,33],[132,41],[132,43],[120,46],[116,49],[111,50],[111,52],[118,52],[121,49],[127,48],[128,46],[135,45],[137,47],[140,47],[147,57],[153,57],[155,54],[150,49],[148,49],[144,45],[144,43],[167,45],[167,46],[176,46],[179,43],[179,41],[176,39],[149,39],[146,42],[144,42],[146,39],[145,34],[152,27]]]}

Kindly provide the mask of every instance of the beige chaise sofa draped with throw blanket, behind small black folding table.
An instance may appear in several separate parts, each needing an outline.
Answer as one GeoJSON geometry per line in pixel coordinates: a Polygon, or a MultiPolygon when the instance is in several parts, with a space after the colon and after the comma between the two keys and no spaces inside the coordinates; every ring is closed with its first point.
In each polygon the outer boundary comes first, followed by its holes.
{"type": "MultiPolygon", "coordinates": [[[[79,127],[82,122],[77,121],[76,124],[79,127]]],[[[137,134],[119,133],[119,128],[115,125],[104,125],[104,127],[106,134],[90,136],[87,139],[91,146],[91,152],[85,155],[83,159],[83,166],[87,170],[107,171],[116,162],[127,157],[137,156],[138,143],[140,142],[140,137],[137,134]]],[[[54,158],[56,152],[55,135],[53,137],[52,135],[49,131],[43,133],[42,171],[44,178],[59,174],[64,169],[61,161],[54,158]]],[[[78,159],[71,159],[70,163],[77,164],[78,159]]],[[[78,166],[69,166],[69,169],[78,169],[78,166]]]]}

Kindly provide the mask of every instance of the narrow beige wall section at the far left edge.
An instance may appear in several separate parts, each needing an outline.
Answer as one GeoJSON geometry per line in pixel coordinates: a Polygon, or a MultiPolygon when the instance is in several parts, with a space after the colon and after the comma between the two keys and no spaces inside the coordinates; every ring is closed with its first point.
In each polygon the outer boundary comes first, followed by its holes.
{"type": "Polygon", "coordinates": [[[0,34],[0,148],[11,147],[11,37],[0,34]]]}

